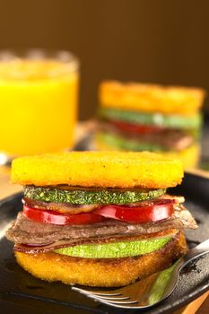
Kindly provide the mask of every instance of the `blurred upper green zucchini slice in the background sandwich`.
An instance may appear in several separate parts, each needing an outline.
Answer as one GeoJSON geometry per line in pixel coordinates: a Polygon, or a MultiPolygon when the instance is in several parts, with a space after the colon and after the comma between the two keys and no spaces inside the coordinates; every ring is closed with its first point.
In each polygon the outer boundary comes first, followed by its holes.
{"type": "Polygon", "coordinates": [[[163,115],[161,113],[148,113],[119,110],[113,108],[100,108],[99,115],[101,118],[115,119],[133,124],[145,126],[161,126],[178,129],[196,129],[202,125],[201,114],[195,116],[182,115],[163,115]]]}

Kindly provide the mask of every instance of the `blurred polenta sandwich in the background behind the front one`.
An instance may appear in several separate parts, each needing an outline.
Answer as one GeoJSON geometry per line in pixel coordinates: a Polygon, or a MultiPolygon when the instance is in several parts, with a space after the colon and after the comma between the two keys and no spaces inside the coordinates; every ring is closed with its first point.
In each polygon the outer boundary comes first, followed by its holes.
{"type": "Polygon", "coordinates": [[[143,83],[100,84],[98,150],[151,151],[196,167],[205,92],[143,83]]]}

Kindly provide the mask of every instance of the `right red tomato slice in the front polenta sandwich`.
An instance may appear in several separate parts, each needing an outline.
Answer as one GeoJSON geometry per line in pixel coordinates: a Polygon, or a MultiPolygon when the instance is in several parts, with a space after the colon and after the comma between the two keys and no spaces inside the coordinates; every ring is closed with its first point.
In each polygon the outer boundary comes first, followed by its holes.
{"type": "Polygon", "coordinates": [[[107,205],[94,210],[93,213],[124,222],[159,222],[169,218],[173,213],[172,200],[170,202],[168,200],[166,202],[163,200],[156,201],[137,207],[107,205]]]}

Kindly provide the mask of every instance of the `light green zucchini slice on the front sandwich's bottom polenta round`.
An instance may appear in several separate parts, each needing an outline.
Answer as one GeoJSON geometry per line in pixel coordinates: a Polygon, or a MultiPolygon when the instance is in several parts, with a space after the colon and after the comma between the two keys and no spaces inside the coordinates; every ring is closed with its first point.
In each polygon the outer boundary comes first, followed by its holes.
{"type": "Polygon", "coordinates": [[[152,240],[122,241],[106,244],[83,244],[75,247],[56,249],[58,254],[83,258],[120,258],[135,257],[161,249],[172,238],[152,240]]]}

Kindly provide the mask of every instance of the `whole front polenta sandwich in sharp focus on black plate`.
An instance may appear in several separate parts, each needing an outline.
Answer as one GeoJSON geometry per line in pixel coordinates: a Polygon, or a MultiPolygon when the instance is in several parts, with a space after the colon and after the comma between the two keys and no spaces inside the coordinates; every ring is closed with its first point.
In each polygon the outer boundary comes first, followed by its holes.
{"type": "Polygon", "coordinates": [[[116,287],[187,251],[196,222],[166,194],[182,164],[155,153],[74,152],[13,161],[23,210],[7,231],[17,262],[48,282],[116,287]]]}

